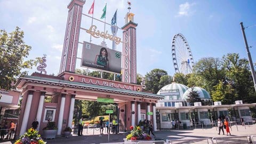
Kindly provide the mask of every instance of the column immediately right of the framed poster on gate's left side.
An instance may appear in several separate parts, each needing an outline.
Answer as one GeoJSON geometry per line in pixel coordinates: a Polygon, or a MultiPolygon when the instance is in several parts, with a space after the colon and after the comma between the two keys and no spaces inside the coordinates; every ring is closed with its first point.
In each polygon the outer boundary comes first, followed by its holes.
{"type": "Polygon", "coordinates": [[[65,108],[65,100],[66,100],[66,94],[62,93],[61,94],[61,102],[60,102],[60,113],[59,113],[59,119],[58,119],[57,135],[61,135],[63,114],[64,114],[64,108],[65,108]]]}

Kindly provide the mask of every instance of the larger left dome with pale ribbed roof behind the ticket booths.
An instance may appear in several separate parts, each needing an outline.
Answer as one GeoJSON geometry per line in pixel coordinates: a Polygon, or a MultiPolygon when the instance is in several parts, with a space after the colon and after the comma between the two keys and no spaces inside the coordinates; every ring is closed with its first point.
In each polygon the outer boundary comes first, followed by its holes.
{"type": "Polygon", "coordinates": [[[178,84],[178,83],[171,83],[168,85],[165,85],[160,89],[157,94],[160,95],[179,95],[179,98],[183,100],[183,94],[188,90],[188,87],[183,84],[178,84]]]}

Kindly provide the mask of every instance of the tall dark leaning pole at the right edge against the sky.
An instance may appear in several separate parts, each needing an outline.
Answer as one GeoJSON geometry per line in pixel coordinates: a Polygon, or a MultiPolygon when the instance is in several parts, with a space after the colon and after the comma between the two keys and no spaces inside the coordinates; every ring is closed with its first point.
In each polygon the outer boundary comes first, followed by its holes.
{"type": "Polygon", "coordinates": [[[243,37],[244,37],[244,44],[245,44],[245,48],[246,48],[246,51],[247,51],[248,60],[249,60],[250,67],[251,67],[251,73],[252,73],[252,79],[253,79],[253,83],[254,83],[254,89],[255,89],[255,92],[256,92],[256,75],[255,75],[255,71],[254,71],[254,67],[253,67],[253,63],[252,63],[251,53],[249,51],[249,47],[248,47],[246,36],[245,36],[245,32],[244,32],[243,22],[241,22],[240,25],[241,25],[242,34],[243,34],[243,37]]]}

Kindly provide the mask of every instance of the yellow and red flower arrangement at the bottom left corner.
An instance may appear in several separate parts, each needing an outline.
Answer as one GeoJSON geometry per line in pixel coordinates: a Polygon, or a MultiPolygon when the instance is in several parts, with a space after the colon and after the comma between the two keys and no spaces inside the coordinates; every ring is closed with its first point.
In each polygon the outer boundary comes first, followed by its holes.
{"type": "Polygon", "coordinates": [[[37,130],[33,128],[28,129],[20,138],[14,142],[14,144],[44,144],[45,142],[41,138],[41,135],[38,134],[37,130]]]}

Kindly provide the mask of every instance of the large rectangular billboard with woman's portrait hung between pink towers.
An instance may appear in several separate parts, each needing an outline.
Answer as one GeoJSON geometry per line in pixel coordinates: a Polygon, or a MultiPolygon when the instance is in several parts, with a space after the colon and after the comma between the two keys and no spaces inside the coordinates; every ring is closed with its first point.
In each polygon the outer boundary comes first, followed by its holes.
{"type": "Polygon", "coordinates": [[[81,67],[121,73],[122,53],[89,42],[83,43],[81,67]]]}

